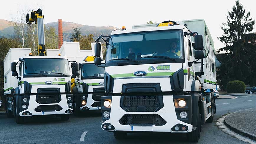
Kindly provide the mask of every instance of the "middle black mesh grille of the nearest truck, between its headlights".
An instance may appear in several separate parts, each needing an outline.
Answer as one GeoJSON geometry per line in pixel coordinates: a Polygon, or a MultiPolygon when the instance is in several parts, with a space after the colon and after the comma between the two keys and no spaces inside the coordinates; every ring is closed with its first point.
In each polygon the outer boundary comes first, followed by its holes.
{"type": "Polygon", "coordinates": [[[122,96],[121,107],[127,112],[154,112],[163,107],[163,97],[122,96]]]}

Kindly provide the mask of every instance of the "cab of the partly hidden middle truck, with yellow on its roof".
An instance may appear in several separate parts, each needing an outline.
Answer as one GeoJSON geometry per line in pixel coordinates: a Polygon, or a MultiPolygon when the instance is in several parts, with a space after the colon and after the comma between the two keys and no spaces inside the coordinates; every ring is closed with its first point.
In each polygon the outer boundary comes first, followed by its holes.
{"type": "Polygon", "coordinates": [[[106,96],[104,89],[104,67],[94,64],[94,56],[87,56],[79,63],[80,85],[76,80],[73,88],[74,114],[81,111],[101,110],[101,96],[106,96]]]}

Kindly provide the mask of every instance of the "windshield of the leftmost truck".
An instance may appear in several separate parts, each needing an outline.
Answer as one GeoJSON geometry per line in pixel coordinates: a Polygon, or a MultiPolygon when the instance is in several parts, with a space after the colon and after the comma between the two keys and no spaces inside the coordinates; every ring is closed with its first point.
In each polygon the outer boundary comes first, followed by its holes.
{"type": "Polygon", "coordinates": [[[24,58],[24,77],[70,77],[67,59],[24,58]]]}

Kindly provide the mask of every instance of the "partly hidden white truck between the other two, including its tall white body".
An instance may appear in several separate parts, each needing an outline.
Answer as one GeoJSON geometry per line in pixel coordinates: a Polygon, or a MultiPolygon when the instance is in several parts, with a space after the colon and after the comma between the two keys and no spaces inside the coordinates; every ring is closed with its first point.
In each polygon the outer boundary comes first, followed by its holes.
{"type": "Polygon", "coordinates": [[[71,88],[72,94],[74,95],[73,109],[75,115],[79,115],[81,111],[100,110],[101,96],[106,96],[104,89],[104,68],[95,66],[93,62],[94,56],[88,61],[88,56],[90,57],[94,54],[95,44],[91,43],[91,50],[81,50],[79,42],[64,42],[60,50],[47,49],[48,56],[55,56],[60,53],[66,56],[69,61],[79,63],[80,77],[77,77],[72,82],[71,88]]]}

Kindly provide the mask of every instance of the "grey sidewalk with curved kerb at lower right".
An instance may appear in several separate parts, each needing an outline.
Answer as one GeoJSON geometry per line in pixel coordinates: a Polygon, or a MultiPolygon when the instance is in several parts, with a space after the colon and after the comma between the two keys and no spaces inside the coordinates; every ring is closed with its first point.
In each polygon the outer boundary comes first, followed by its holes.
{"type": "Polygon", "coordinates": [[[234,132],[256,141],[256,108],[231,113],[224,124],[234,132]]]}

